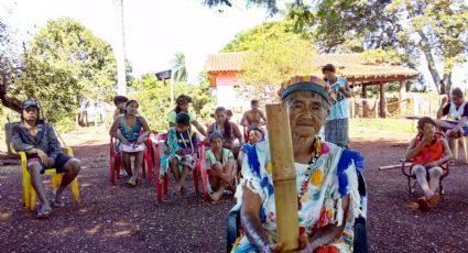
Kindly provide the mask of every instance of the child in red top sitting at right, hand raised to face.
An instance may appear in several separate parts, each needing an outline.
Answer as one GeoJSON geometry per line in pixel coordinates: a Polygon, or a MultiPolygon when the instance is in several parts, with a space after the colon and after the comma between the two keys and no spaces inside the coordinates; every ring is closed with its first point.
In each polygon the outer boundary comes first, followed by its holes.
{"type": "Polygon", "coordinates": [[[423,117],[417,121],[417,136],[410,142],[406,158],[414,161],[411,174],[416,176],[425,195],[418,199],[418,208],[427,210],[439,200],[440,196],[436,190],[444,173],[442,166],[451,160],[451,152],[447,141],[436,134],[436,123],[429,117],[423,117]]]}

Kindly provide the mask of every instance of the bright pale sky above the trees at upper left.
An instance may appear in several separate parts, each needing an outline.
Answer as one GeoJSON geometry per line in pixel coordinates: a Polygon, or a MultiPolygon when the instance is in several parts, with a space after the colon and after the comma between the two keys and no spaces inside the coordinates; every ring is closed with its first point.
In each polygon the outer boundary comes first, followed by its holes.
{"type": "MultiPolygon", "coordinates": [[[[0,16],[28,41],[47,20],[69,16],[119,48],[120,9],[116,0],[1,0],[0,16]]],[[[195,82],[208,54],[233,36],[266,20],[264,9],[209,9],[200,0],[124,0],[126,54],[133,75],[171,68],[176,52],[186,57],[189,81],[195,82]],[[221,9],[222,12],[218,10],[221,9]]]]}

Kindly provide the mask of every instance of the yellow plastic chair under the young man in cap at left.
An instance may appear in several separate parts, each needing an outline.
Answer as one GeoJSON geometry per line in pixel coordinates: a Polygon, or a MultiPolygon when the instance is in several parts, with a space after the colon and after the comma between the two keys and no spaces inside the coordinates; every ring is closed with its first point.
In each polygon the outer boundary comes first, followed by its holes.
{"type": "MultiPolygon", "coordinates": [[[[14,148],[11,148],[14,152],[14,148]]],[[[73,157],[73,150],[72,147],[62,147],[62,151],[73,157]]],[[[35,190],[31,184],[31,175],[28,170],[28,158],[26,153],[20,151],[17,152],[21,157],[21,168],[23,170],[23,205],[26,208],[28,211],[34,210],[35,208],[35,190]]],[[[62,177],[63,174],[57,174],[55,168],[46,168],[44,170],[44,175],[52,176],[52,187],[54,189],[54,193],[58,189],[58,187],[62,184],[62,177]]],[[[75,199],[75,202],[79,202],[79,186],[78,186],[78,177],[75,177],[75,179],[70,184],[73,197],[75,199]]]]}

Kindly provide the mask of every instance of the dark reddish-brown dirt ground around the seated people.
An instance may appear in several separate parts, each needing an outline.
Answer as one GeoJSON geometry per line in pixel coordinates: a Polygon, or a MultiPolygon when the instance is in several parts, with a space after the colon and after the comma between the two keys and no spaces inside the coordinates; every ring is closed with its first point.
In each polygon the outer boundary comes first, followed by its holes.
{"type": "MultiPolygon", "coordinates": [[[[65,136],[75,140],[69,144],[84,164],[81,202],[75,205],[67,194],[68,205],[54,209],[47,220],[36,220],[22,208],[20,167],[0,167],[0,252],[226,251],[232,197],[203,202],[192,178],[184,196],[171,188],[161,205],[155,204],[154,184],[148,180],[137,188],[126,187],[123,180],[110,186],[107,136],[104,129],[65,136]]],[[[352,148],[367,158],[370,252],[467,252],[467,166],[460,162],[450,167],[446,194],[434,210],[410,210],[405,204],[414,197],[401,169],[378,168],[396,164],[411,135],[356,128],[351,136],[352,148]]]]}

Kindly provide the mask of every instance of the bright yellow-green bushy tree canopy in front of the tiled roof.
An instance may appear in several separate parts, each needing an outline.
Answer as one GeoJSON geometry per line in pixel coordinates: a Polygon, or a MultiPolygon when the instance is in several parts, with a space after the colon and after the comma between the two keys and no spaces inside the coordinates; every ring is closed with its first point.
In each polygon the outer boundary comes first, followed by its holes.
{"type": "Polygon", "coordinates": [[[296,74],[315,72],[315,50],[303,33],[295,33],[293,22],[266,22],[239,33],[224,52],[247,51],[242,80],[259,91],[276,90],[281,82],[296,74]]]}

